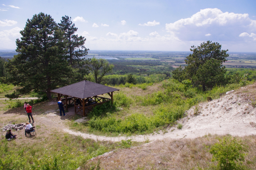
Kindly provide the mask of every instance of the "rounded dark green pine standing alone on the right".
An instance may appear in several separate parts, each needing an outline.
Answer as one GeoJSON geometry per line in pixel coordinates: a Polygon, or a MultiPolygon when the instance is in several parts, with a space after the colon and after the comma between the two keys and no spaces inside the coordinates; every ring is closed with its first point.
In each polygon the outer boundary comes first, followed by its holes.
{"type": "Polygon", "coordinates": [[[182,80],[192,80],[194,86],[202,86],[212,88],[214,85],[220,85],[226,82],[224,74],[226,73],[225,66],[222,63],[227,61],[228,50],[221,50],[221,45],[218,42],[207,41],[200,46],[191,46],[190,54],[186,57],[185,62],[188,64],[184,69],[180,66],[174,70],[173,78],[182,82],[182,80]]]}

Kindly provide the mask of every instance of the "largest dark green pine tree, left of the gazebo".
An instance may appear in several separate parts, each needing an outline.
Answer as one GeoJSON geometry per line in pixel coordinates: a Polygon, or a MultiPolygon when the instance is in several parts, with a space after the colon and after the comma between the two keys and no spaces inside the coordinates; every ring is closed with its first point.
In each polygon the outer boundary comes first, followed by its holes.
{"type": "Polygon", "coordinates": [[[7,81],[18,89],[6,97],[46,92],[50,99],[50,90],[68,84],[73,73],[65,57],[63,33],[50,15],[41,12],[27,20],[20,34],[18,54],[6,62],[7,81]]]}

